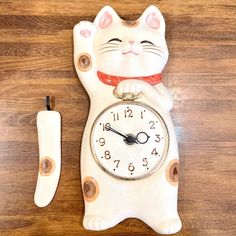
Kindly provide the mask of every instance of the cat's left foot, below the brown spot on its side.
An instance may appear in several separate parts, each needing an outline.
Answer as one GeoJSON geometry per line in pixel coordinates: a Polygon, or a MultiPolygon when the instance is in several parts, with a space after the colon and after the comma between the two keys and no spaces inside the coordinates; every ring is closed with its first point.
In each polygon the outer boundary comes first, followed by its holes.
{"type": "Polygon", "coordinates": [[[83,226],[88,230],[105,230],[113,225],[109,224],[109,221],[101,216],[87,215],[84,216],[83,226]]]}

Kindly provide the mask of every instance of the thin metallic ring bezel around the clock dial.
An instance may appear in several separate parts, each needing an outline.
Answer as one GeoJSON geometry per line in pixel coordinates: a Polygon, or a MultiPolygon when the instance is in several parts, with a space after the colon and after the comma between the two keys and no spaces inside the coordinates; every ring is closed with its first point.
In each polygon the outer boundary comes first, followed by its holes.
{"type": "Polygon", "coordinates": [[[161,166],[163,165],[166,157],[167,157],[167,154],[168,154],[168,151],[169,151],[169,145],[170,145],[170,135],[169,135],[169,130],[168,130],[168,127],[166,125],[166,122],[165,120],[163,119],[163,117],[160,115],[160,113],[158,111],[156,111],[154,108],[152,108],[151,106],[147,105],[146,103],[143,103],[143,102],[137,102],[137,101],[121,101],[121,102],[116,102],[108,107],[106,107],[102,112],[99,113],[99,115],[96,117],[96,119],[94,120],[93,122],[93,125],[92,125],[92,128],[91,128],[91,131],[90,131],[90,150],[92,152],[92,155],[93,155],[93,158],[95,160],[95,162],[97,163],[97,165],[105,172],[107,173],[108,175],[116,178],[116,179],[120,179],[120,180],[129,180],[129,181],[134,181],[134,180],[140,180],[140,179],[144,179],[144,178],[147,178],[151,175],[153,175],[155,172],[158,171],[158,169],[161,168],[161,166]],[[160,120],[162,121],[162,124],[163,126],[165,127],[165,131],[166,131],[166,136],[167,136],[167,143],[165,145],[165,148],[164,148],[164,152],[163,152],[163,155],[161,157],[161,161],[160,161],[160,164],[158,164],[155,168],[153,168],[152,171],[149,171],[147,174],[144,174],[142,176],[139,176],[139,177],[132,177],[132,178],[127,178],[127,177],[121,177],[121,176],[117,176],[115,173],[112,173],[110,172],[109,170],[107,170],[103,165],[102,163],[98,160],[98,157],[95,153],[95,150],[94,150],[94,142],[92,142],[92,138],[93,138],[93,135],[94,135],[94,129],[95,129],[95,125],[97,124],[97,121],[98,119],[107,111],[109,110],[110,108],[112,107],[116,107],[116,106],[119,106],[119,105],[137,105],[137,106],[142,106],[148,110],[150,110],[151,112],[153,112],[156,116],[158,116],[160,118],[160,120]]]}

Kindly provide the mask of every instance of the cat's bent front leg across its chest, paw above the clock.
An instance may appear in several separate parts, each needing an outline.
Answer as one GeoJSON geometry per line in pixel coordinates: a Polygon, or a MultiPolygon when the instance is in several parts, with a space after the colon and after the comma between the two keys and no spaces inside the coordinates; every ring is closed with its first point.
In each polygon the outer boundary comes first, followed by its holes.
{"type": "Polygon", "coordinates": [[[143,80],[127,79],[121,81],[115,88],[115,94],[132,93],[135,96],[143,95],[148,101],[160,108],[170,111],[173,107],[173,99],[166,87],[159,83],[153,86],[143,80]]]}

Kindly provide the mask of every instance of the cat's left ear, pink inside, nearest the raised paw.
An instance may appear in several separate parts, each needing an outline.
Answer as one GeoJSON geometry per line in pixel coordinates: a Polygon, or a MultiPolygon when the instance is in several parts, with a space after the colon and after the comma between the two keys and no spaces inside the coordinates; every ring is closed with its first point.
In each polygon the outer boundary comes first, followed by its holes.
{"type": "Polygon", "coordinates": [[[117,15],[115,10],[110,6],[105,6],[97,14],[94,24],[99,29],[106,29],[117,20],[120,20],[120,17],[117,15]]]}

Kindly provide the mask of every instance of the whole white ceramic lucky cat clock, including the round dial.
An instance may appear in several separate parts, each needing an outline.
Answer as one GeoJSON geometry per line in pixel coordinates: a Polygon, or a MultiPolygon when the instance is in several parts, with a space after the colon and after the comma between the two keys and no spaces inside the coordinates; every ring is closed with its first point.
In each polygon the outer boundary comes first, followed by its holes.
{"type": "Polygon", "coordinates": [[[90,98],[81,148],[83,226],[105,230],[129,217],[156,232],[181,229],[178,147],[161,82],[165,21],[148,7],[124,21],[109,6],[74,27],[76,72],[90,98]]]}

